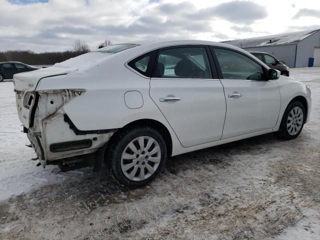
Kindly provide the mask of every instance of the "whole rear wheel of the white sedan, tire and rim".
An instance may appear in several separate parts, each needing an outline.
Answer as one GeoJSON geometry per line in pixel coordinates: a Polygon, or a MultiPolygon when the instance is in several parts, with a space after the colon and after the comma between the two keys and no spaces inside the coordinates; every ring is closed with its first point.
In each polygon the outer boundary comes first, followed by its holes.
{"type": "Polygon", "coordinates": [[[105,152],[109,171],[121,185],[130,188],[147,185],[158,176],[165,164],[163,137],[148,126],[136,126],[115,134],[105,152]]]}

